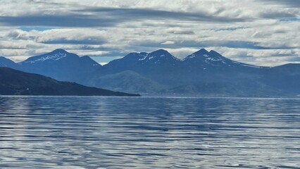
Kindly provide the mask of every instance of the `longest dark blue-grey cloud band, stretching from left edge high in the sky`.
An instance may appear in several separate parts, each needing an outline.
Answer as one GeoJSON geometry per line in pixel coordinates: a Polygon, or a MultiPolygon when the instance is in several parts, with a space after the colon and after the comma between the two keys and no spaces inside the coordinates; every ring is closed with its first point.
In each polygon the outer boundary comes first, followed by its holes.
{"type": "Polygon", "coordinates": [[[110,27],[132,20],[185,20],[199,22],[244,22],[249,18],[229,18],[207,13],[183,13],[141,8],[85,8],[65,15],[0,16],[10,26],[110,27]],[[84,12],[93,13],[89,15],[84,12]]]}

